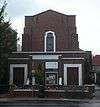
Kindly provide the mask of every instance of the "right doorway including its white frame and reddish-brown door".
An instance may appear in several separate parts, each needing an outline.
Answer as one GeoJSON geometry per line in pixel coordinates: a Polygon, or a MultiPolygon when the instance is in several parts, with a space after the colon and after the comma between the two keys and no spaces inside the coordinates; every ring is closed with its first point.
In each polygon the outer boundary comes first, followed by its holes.
{"type": "Polygon", "coordinates": [[[82,85],[82,64],[64,64],[64,85],[82,85]]]}

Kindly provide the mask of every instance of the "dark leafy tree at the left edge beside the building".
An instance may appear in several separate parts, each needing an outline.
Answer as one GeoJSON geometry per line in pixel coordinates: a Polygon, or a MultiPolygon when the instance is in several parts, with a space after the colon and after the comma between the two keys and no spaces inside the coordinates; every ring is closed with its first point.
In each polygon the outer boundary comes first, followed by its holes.
{"type": "Polygon", "coordinates": [[[0,84],[8,84],[8,57],[17,49],[17,32],[5,21],[6,5],[0,8],[0,84]]]}

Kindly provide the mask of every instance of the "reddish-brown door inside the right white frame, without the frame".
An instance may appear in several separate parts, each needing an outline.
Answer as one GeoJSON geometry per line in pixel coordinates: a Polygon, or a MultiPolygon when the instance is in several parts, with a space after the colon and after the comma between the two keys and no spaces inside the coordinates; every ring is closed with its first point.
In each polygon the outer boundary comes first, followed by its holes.
{"type": "Polygon", "coordinates": [[[79,85],[78,67],[67,68],[67,85],[79,85]]]}

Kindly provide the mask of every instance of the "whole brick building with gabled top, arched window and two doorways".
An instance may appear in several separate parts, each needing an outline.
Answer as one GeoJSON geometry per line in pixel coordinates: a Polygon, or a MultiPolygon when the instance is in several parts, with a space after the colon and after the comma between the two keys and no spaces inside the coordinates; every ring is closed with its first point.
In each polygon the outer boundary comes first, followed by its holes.
{"type": "Polygon", "coordinates": [[[90,84],[91,52],[79,48],[75,15],[48,10],[26,16],[22,52],[13,52],[9,62],[10,84],[25,85],[39,63],[45,85],[90,84]]]}

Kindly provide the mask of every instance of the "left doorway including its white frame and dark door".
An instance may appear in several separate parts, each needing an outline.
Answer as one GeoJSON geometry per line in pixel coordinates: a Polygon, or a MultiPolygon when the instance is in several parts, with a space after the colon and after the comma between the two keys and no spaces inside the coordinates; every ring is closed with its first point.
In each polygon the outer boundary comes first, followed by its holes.
{"type": "Polygon", "coordinates": [[[28,76],[27,64],[10,64],[9,84],[25,85],[28,76]]]}

